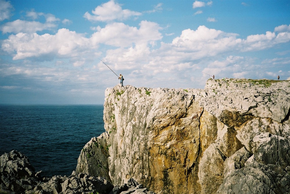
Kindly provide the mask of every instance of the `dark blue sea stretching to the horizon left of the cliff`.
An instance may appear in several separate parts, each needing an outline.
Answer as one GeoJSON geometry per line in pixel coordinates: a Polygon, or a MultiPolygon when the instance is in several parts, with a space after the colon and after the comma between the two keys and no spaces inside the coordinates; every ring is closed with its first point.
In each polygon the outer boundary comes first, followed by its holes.
{"type": "Polygon", "coordinates": [[[17,150],[41,175],[70,175],[92,137],[105,131],[103,105],[0,105],[0,155],[17,150]]]}

